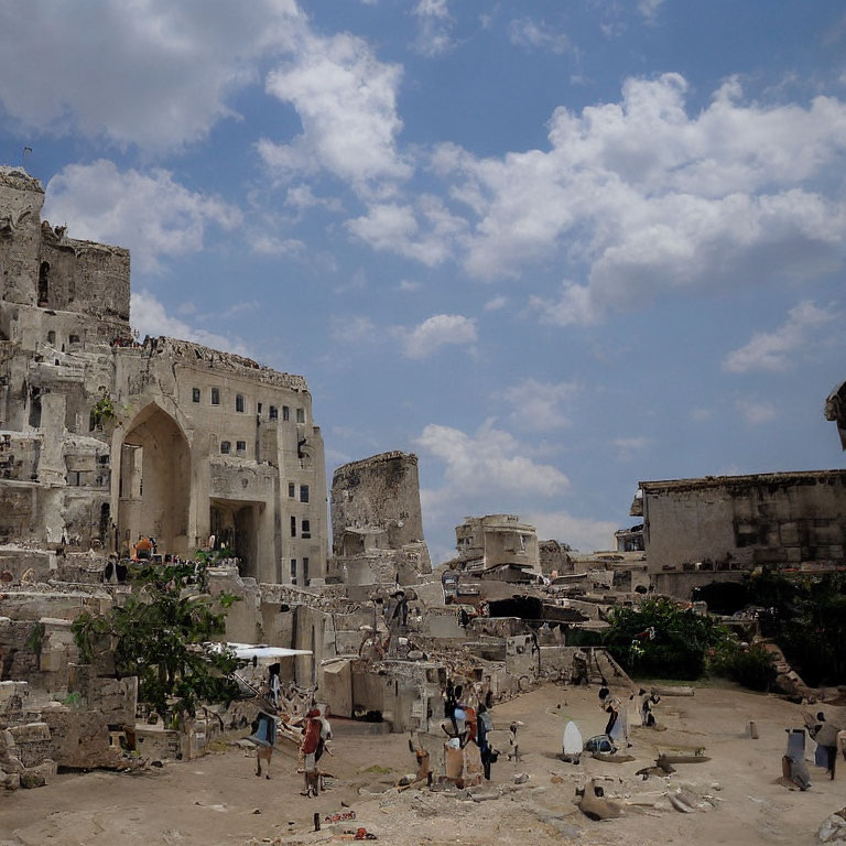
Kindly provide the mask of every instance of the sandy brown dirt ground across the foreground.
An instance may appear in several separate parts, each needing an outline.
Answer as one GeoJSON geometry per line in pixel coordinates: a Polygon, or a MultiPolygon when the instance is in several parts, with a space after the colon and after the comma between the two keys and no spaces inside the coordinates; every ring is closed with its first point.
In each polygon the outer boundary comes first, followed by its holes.
{"type": "MultiPolygon", "coordinates": [[[[622,693],[621,691],[619,693],[622,693]]],[[[816,711],[816,707],[813,708],[816,711]]],[[[558,758],[564,726],[574,719],[585,738],[599,734],[605,715],[595,687],[545,686],[494,708],[494,746],[508,750],[507,728],[524,723],[520,762],[502,755],[492,781],[466,793],[391,789],[413,772],[408,737],[337,737],[335,777],[318,799],[300,795],[296,761],[276,753],[272,778],[256,778],[251,751],[229,746],[197,760],[138,773],[61,774],[37,790],[0,793],[0,846],[237,846],[262,843],[333,843],[345,831],[366,827],[386,844],[579,843],[588,846],[653,844],[815,843],[823,820],[846,805],[846,762],[829,781],[810,763],[812,788],[790,791],[778,782],[787,727],[801,727],[802,708],[773,696],[699,687],[693,697],[664,697],[657,707],[663,731],[633,728],[634,760],[578,764],[558,758]],[[755,719],[759,739],[748,736],[755,719]],[[659,750],[704,747],[709,761],[677,764],[668,778],[634,776],[659,750]],[[514,783],[527,773],[528,781],[514,783]],[[592,822],[574,804],[585,776],[605,776],[608,795],[623,803],[619,820],[592,822]],[[713,796],[693,813],[673,810],[666,799],[680,785],[713,796]],[[634,804],[637,803],[637,804],[634,804]],[[354,822],[313,831],[313,818],[354,810],[354,822]]],[[[846,711],[826,707],[831,722],[846,725],[846,711]]],[[[633,705],[630,723],[637,723],[633,705]]],[[[432,739],[436,751],[440,741],[432,739]]],[[[437,762],[437,755],[433,756],[437,762]]]]}

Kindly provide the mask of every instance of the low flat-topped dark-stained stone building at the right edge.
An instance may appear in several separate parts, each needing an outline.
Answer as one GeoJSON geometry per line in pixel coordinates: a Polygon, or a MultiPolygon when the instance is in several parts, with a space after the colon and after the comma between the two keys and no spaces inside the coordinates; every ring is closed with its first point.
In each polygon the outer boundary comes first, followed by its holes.
{"type": "Polygon", "coordinates": [[[762,565],[846,566],[846,470],[641,481],[640,491],[631,513],[643,518],[647,566],[661,593],[686,598],[762,565]]]}

